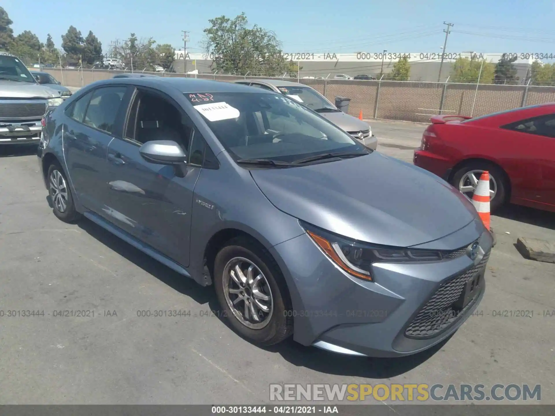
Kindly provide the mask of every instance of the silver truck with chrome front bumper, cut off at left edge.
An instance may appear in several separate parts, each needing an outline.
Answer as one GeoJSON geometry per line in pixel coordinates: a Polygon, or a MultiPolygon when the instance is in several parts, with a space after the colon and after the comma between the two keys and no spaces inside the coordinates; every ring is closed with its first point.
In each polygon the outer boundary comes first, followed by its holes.
{"type": "Polygon", "coordinates": [[[62,102],[56,90],[37,83],[21,60],[0,52],[0,146],[37,145],[44,114],[62,102]]]}

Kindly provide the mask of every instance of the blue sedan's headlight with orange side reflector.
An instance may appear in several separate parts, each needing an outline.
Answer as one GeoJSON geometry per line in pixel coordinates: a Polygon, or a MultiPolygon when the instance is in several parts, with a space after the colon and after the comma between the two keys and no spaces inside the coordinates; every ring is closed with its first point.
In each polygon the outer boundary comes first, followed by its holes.
{"type": "Polygon", "coordinates": [[[374,263],[400,263],[415,261],[440,261],[440,251],[415,248],[371,245],[338,236],[329,231],[299,221],[312,241],[330,259],[352,276],[374,281],[372,265],[374,263]]]}

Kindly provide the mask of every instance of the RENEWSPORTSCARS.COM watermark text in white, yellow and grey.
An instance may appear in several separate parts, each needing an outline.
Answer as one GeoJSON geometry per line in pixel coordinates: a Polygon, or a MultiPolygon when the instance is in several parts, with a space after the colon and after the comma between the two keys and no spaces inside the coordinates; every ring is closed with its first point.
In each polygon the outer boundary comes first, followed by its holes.
{"type": "Polygon", "coordinates": [[[270,384],[270,400],[292,402],[326,400],[350,402],[391,400],[397,402],[461,402],[542,399],[540,384],[270,384]]]}

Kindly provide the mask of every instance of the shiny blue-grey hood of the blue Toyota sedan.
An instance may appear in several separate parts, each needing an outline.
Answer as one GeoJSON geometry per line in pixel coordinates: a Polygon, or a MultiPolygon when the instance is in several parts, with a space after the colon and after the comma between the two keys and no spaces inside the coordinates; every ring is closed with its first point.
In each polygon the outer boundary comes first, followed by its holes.
{"type": "Polygon", "coordinates": [[[477,216],[471,202],[440,177],[376,151],[299,168],[253,169],[251,175],[279,210],[379,245],[437,240],[477,216]]]}

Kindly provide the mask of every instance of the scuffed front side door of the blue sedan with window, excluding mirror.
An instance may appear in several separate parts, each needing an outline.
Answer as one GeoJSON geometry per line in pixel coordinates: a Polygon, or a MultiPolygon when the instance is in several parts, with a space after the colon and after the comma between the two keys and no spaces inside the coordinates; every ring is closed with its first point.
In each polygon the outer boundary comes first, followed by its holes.
{"type": "Polygon", "coordinates": [[[150,163],[139,153],[152,140],[174,140],[189,150],[192,123],[177,104],[138,90],[123,139],[108,147],[108,214],[115,225],[183,266],[189,264],[193,191],[200,167],[184,177],[174,166],[150,163]]]}

